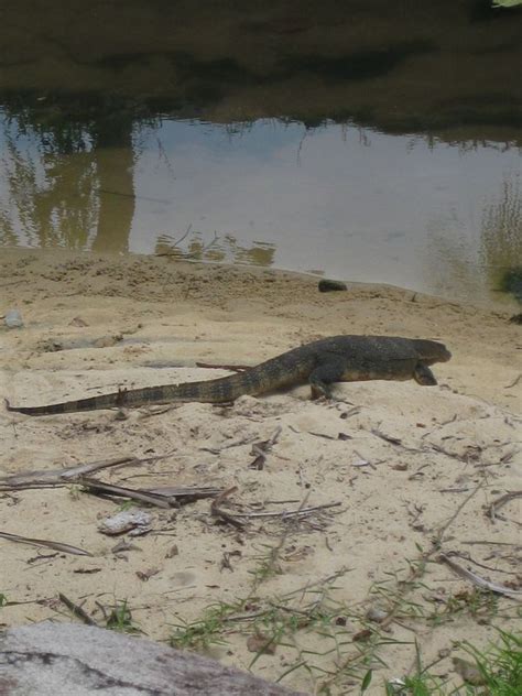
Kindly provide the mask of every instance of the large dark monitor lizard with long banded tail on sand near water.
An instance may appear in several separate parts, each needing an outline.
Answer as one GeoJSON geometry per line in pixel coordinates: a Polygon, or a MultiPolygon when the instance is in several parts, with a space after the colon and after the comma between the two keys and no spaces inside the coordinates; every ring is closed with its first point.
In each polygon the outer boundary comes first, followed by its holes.
{"type": "Polygon", "coordinates": [[[199,401],[226,403],[243,394],[259,395],[308,381],[313,398],[331,396],[334,382],[409,380],[436,384],[428,366],[452,357],[443,344],[398,336],[333,336],[300,346],[243,372],[203,382],[162,384],[44,406],[11,406],[28,415],[94,411],[115,406],[199,401]]]}

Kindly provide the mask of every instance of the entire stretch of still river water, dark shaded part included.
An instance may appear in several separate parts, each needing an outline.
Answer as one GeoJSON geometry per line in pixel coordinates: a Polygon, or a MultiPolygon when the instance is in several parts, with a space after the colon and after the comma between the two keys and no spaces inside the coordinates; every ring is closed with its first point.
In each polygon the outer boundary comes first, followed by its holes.
{"type": "Polygon", "coordinates": [[[7,2],[0,246],[512,302],[522,14],[371,4],[7,2]]]}

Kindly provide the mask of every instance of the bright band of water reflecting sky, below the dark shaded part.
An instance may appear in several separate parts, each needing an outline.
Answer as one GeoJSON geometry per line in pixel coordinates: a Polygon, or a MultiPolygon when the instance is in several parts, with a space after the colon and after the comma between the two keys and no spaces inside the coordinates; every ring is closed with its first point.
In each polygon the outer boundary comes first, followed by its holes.
{"type": "Polygon", "coordinates": [[[522,264],[515,148],[278,120],[165,120],[134,127],[129,146],[81,148],[3,123],[2,243],[174,252],[471,301],[522,264]]]}

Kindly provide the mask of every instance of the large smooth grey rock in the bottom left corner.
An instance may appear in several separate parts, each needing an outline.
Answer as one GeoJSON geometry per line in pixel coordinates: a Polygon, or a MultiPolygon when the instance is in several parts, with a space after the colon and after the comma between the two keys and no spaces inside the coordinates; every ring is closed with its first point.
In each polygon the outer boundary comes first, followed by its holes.
{"type": "Polygon", "coordinates": [[[10,629],[0,637],[0,694],[98,693],[297,696],[213,660],[90,626],[45,621],[10,629]]]}

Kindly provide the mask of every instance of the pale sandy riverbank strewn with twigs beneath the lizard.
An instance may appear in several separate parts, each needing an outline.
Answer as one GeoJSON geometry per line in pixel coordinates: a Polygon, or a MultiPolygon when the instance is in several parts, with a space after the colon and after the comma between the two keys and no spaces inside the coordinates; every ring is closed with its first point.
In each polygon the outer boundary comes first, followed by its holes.
{"type": "MultiPolygon", "coordinates": [[[[474,490],[443,550],[470,553],[489,568],[470,566],[476,573],[520,589],[520,499],[494,524],[485,515],[485,507],[502,493],[522,488],[522,329],[507,314],[385,286],[320,294],[316,280],[292,273],[28,250],[2,250],[0,293],[0,314],[18,307],[24,319],[21,329],[0,329],[0,396],[15,404],[218,377],[226,372],[196,362],[254,365],[335,334],[434,338],[454,356],[434,367],[437,387],[344,384],[334,403],[309,402],[302,387],[241,398],[227,407],[184,404],[123,417],[100,411],[30,418],[2,410],[3,476],[124,455],[168,455],[108,469],[100,478],[130,487],[236,486],[230,507],[222,503],[229,512],[339,503],[292,524],[252,518],[244,529],[218,523],[209,500],[180,510],[149,509],[152,532],[127,536],[131,547],[115,552],[120,539],[101,534],[98,525],[118,503],[65,488],[0,493],[1,531],[93,554],[0,540],[0,592],[11,602],[29,602],[4,607],[2,623],[67,617],[57,599],[63,592],[100,624],[100,605],[127,600],[141,630],[165,640],[174,624],[200,618],[209,605],[249,598],[232,613],[252,617],[224,623],[228,643],[209,650],[248,668],[255,656],[248,633],[272,635],[273,626],[255,624],[255,616],[267,618],[271,601],[284,605],[281,617],[307,616],[306,626],[285,633],[275,654],[260,656],[252,671],[269,679],[290,671],[283,684],[313,693],[354,652],[367,602],[376,600],[371,588],[377,583],[381,605],[384,587],[399,596],[404,588],[390,574],[404,578],[406,559],[415,561],[420,546],[429,548],[436,531],[474,490]],[[275,433],[264,467],[250,468],[252,445],[275,433]],[[336,574],[335,581],[325,581],[336,574]],[[338,654],[330,652],[333,638],[318,637],[307,607],[318,595],[303,588],[317,583],[328,588],[322,598],[333,618],[325,631],[337,633],[338,654]],[[306,649],[313,652],[302,652],[306,649]],[[304,662],[317,668],[312,674],[291,670],[304,662]]],[[[443,563],[429,563],[422,583],[407,602],[418,602],[424,619],[401,615],[399,623],[391,622],[387,635],[406,643],[380,649],[389,667],[374,675],[376,694],[384,677],[412,667],[415,637],[425,663],[446,655],[434,671],[450,674],[452,656],[460,654],[453,641],[483,644],[493,635],[491,623],[509,626],[514,616],[508,598],[494,613],[485,601],[474,616],[472,586],[443,563]],[[435,621],[445,607],[444,620],[435,621]]],[[[349,681],[334,678],[331,693],[348,693],[349,681]]]]}

